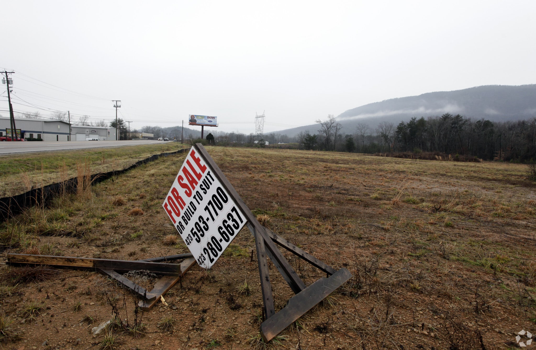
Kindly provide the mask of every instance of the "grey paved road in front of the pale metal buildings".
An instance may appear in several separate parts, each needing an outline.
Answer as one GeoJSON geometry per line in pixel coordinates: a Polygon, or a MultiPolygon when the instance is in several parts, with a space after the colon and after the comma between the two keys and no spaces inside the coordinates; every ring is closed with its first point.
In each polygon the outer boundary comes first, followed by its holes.
{"type": "Polygon", "coordinates": [[[166,143],[170,141],[19,141],[19,142],[0,142],[0,154],[10,153],[28,153],[57,151],[64,149],[83,149],[83,148],[101,148],[101,147],[121,147],[132,146],[133,144],[155,144],[166,143]]]}

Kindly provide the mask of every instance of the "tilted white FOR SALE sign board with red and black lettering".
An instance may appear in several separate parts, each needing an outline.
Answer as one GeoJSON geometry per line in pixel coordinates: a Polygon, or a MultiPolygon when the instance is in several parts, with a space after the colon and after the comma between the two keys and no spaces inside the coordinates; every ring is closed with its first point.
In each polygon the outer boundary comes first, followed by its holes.
{"type": "Polygon", "coordinates": [[[200,267],[214,265],[245,225],[245,217],[192,147],[162,207],[200,267]]]}

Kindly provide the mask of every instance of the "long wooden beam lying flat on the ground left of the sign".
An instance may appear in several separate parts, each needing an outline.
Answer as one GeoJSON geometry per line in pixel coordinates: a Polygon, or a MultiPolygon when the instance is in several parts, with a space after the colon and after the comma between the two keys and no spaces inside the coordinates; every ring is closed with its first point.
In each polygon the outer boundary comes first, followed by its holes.
{"type": "Polygon", "coordinates": [[[8,254],[9,264],[43,264],[58,267],[111,269],[117,271],[148,270],[158,275],[179,275],[179,264],[166,264],[146,261],[126,261],[95,259],[87,257],[33,255],[33,254],[8,254]]]}

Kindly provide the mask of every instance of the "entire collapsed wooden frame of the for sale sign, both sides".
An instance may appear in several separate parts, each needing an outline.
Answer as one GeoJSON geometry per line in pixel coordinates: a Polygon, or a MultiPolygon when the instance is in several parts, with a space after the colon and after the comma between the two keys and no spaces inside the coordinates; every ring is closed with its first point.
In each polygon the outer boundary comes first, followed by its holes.
{"type": "MultiPolygon", "coordinates": [[[[343,285],[348,279],[352,278],[352,274],[345,268],[339,270],[333,269],[311,254],[280,237],[277,233],[260,225],[255,215],[253,215],[251,210],[244,203],[240,195],[230,184],[229,180],[227,180],[224,173],[220,170],[203,145],[201,143],[196,143],[194,148],[197,150],[198,155],[203,157],[205,163],[212,168],[214,176],[218,178],[228,194],[233,197],[239,210],[247,219],[246,225],[255,238],[264,314],[264,322],[260,324],[260,336],[262,336],[264,341],[268,342],[296,321],[296,319],[300,318],[307,313],[307,311],[324,300],[326,296],[330,295],[338,287],[343,285]],[[322,277],[311,285],[306,286],[297,275],[296,271],[294,271],[291,264],[286,260],[285,256],[280,252],[276,244],[325,272],[328,277],[322,277]],[[277,313],[273,303],[272,285],[270,283],[267,257],[270,258],[295,294],[287,301],[286,306],[277,313]]],[[[140,297],[138,306],[144,311],[150,310],[158,302],[161,296],[169,291],[196,263],[196,260],[191,253],[154,257],[136,261],[32,254],[8,254],[7,257],[8,263],[12,265],[46,264],[65,268],[100,270],[137,294],[140,297]],[[174,261],[179,259],[184,260],[180,264],[162,263],[164,261],[174,261]],[[151,291],[147,291],[142,286],[133,283],[131,280],[117,272],[132,270],[148,270],[157,275],[163,275],[163,277],[154,284],[151,291]]]]}

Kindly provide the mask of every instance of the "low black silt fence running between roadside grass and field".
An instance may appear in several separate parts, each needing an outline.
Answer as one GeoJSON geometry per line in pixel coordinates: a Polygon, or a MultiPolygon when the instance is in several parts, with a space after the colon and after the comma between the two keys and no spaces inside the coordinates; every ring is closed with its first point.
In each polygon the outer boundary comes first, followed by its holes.
{"type": "MultiPolygon", "coordinates": [[[[167,157],[170,155],[181,154],[185,152],[188,152],[187,148],[180,149],[175,152],[154,154],[122,170],[112,170],[108,172],[92,174],[91,184],[98,184],[99,182],[107,180],[115,175],[122,174],[129,170],[135,169],[140,165],[153,162],[160,157],[167,157]]],[[[74,177],[65,181],[56,182],[55,184],[50,184],[39,188],[32,188],[28,192],[21,193],[18,195],[0,198],[0,222],[4,222],[10,217],[20,214],[25,209],[31,208],[32,206],[46,205],[59,194],[76,193],[78,187],[77,185],[78,179],[77,177],[74,177]]]]}

